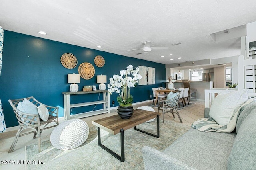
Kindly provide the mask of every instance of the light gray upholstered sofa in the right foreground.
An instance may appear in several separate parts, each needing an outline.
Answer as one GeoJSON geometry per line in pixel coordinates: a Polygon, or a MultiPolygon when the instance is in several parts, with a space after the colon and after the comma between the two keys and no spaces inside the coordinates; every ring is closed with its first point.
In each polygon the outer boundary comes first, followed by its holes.
{"type": "Polygon", "coordinates": [[[256,169],[256,102],[240,112],[232,133],[191,128],[163,152],[145,146],[142,154],[146,170],[256,169]]]}

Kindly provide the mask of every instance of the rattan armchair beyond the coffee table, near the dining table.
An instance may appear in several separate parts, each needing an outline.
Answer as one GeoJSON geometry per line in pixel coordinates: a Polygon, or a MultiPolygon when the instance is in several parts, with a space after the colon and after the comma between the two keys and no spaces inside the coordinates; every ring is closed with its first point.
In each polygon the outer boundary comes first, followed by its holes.
{"type": "Polygon", "coordinates": [[[168,113],[168,112],[172,112],[172,115],[173,115],[174,118],[175,118],[174,113],[176,113],[178,115],[178,118],[180,119],[180,122],[183,123],[182,119],[180,118],[179,110],[178,110],[178,105],[179,105],[178,103],[179,103],[179,100],[180,100],[181,92],[178,91],[177,93],[178,93],[178,95],[175,98],[172,98],[170,100],[160,99],[160,102],[158,104],[158,113],[159,113],[160,110],[162,110],[162,112],[163,112],[163,123],[164,123],[164,114],[168,113]]]}

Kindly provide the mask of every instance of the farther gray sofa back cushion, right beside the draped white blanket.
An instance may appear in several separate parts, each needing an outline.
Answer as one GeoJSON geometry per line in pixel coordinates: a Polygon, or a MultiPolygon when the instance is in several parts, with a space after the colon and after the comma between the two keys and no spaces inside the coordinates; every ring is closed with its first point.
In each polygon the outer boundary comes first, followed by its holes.
{"type": "Polygon", "coordinates": [[[240,128],[240,125],[243,123],[244,119],[252,112],[253,109],[256,108],[256,101],[251,102],[246,107],[244,107],[243,111],[238,116],[238,119],[236,121],[236,133],[238,133],[238,130],[240,128]]]}

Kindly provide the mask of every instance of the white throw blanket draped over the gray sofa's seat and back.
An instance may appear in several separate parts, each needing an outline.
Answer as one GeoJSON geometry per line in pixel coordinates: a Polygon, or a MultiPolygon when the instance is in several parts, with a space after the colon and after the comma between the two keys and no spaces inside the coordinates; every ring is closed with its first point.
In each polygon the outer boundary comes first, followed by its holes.
{"type": "Polygon", "coordinates": [[[192,128],[197,129],[199,131],[205,132],[222,132],[222,133],[231,133],[236,128],[236,121],[240,113],[242,112],[243,108],[246,107],[251,102],[256,101],[256,98],[248,99],[232,116],[230,122],[227,125],[219,125],[214,119],[212,118],[202,118],[198,119],[192,124],[192,128]]]}

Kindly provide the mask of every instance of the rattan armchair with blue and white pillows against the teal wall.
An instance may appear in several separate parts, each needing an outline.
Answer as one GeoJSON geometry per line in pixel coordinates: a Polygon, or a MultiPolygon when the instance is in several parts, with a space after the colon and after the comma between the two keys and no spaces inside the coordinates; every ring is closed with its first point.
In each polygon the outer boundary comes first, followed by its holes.
{"type": "MultiPolygon", "coordinates": [[[[32,102],[36,106],[39,106],[40,104],[42,104],[41,102],[36,100],[33,96],[28,97],[26,99],[29,100],[30,102],[32,102]]],[[[18,141],[18,138],[20,136],[28,135],[30,133],[34,133],[33,138],[36,138],[36,134],[37,134],[37,137],[38,137],[38,152],[41,152],[41,133],[42,133],[42,131],[44,129],[55,127],[59,124],[59,121],[58,121],[59,107],[47,106],[47,105],[44,104],[44,106],[49,111],[49,118],[48,118],[47,121],[42,121],[40,119],[39,115],[24,113],[24,112],[17,109],[17,106],[18,106],[19,102],[22,102],[23,100],[24,100],[24,98],[14,99],[14,100],[9,99],[8,100],[8,102],[10,103],[10,105],[13,108],[13,111],[14,111],[14,113],[16,115],[16,118],[18,120],[18,123],[20,125],[20,128],[18,129],[18,131],[16,133],[16,136],[14,138],[14,141],[13,141],[12,146],[10,147],[10,150],[8,151],[8,153],[13,152],[14,147],[15,147],[15,145],[18,141]],[[52,122],[54,122],[54,124],[47,127],[52,122]],[[44,125],[44,126],[41,128],[42,125],[44,125]],[[32,129],[33,131],[29,131],[29,132],[26,132],[26,133],[21,133],[24,129],[32,129]]]]}

